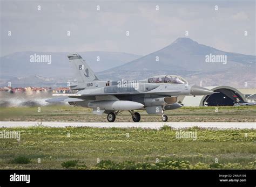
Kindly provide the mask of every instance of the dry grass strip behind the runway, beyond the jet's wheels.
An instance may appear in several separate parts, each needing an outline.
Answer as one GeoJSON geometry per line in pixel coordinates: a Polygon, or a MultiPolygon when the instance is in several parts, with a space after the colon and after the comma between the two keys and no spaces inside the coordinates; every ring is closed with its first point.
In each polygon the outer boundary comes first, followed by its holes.
{"type": "MultiPolygon", "coordinates": [[[[141,122],[161,121],[159,115],[148,115],[139,111],[141,122]]],[[[188,122],[255,122],[256,106],[219,106],[216,107],[181,107],[177,110],[165,111],[168,121],[188,122]]],[[[2,107],[1,121],[99,121],[107,122],[106,114],[96,116],[91,109],[74,106],[42,106],[38,107],[2,107]]],[[[122,112],[116,121],[132,122],[131,114],[122,112]]]]}

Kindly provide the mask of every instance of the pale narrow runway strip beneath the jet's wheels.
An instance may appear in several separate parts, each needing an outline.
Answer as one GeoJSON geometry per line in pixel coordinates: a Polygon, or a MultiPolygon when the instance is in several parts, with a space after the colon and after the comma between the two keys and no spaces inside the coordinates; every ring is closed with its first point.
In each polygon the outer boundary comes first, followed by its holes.
{"type": "Polygon", "coordinates": [[[115,122],[115,123],[103,123],[103,122],[59,122],[59,121],[43,121],[42,124],[40,121],[0,121],[0,127],[31,127],[31,126],[49,126],[49,127],[100,127],[100,128],[152,128],[158,129],[165,125],[171,126],[173,128],[186,128],[186,127],[204,127],[204,128],[256,128],[256,123],[233,123],[233,122],[142,122],[142,123],[126,123],[126,122],[115,122]]]}

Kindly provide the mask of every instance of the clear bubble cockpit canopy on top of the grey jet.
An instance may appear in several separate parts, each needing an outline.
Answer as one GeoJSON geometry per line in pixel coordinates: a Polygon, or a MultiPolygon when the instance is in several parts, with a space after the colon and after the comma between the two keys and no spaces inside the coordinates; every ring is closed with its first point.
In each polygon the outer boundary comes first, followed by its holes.
{"type": "Polygon", "coordinates": [[[171,83],[185,84],[187,81],[178,75],[159,75],[151,77],[147,80],[149,83],[171,83]]]}

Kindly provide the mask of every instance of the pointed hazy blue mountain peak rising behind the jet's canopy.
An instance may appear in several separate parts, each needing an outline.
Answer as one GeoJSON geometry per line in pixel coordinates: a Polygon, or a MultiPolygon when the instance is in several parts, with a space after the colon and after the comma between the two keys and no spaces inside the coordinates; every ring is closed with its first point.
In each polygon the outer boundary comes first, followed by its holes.
{"type": "Polygon", "coordinates": [[[159,51],[102,71],[98,77],[130,80],[174,74],[183,76],[193,84],[199,84],[202,80],[204,86],[230,85],[243,88],[247,82],[248,87],[255,88],[255,57],[220,51],[198,44],[190,38],[178,38],[159,51]]]}

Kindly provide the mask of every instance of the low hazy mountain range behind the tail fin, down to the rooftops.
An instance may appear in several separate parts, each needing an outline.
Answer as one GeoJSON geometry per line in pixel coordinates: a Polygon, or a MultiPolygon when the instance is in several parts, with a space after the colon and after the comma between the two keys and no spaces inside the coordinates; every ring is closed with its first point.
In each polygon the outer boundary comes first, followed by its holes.
{"type": "MultiPolygon", "coordinates": [[[[68,52],[16,52],[0,57],[0,87],[11,82],[12,87],[59,87],[73,81],[73,71],[69,64],[68,52]],[[48,62],[30,62],[30,56],[51,55],[48,62]],[[51,63],[50,63],[51,62],[51,63]]],[[[116,52],[79,52],[93,71],[103,71],[141,56],[116,52]],[[99,56],[99,61],[97,61],[99,56]]]]}

